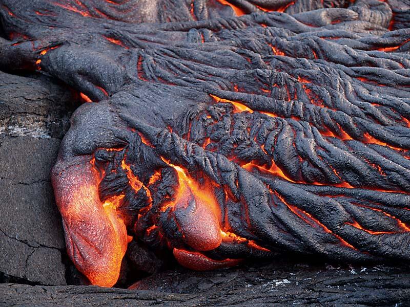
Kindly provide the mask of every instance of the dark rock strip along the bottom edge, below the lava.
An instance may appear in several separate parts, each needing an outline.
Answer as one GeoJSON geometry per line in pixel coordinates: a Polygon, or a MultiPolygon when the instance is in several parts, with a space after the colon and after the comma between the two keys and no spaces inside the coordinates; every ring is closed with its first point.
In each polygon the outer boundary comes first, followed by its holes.
{"type": "Polygon", "coordinates": [[[403,269],[277,261],[213,272],[163,272],[141,280],[141,290],[2,284],[0,305],[406,306],[409,286],[408,271],[403,269]]]}

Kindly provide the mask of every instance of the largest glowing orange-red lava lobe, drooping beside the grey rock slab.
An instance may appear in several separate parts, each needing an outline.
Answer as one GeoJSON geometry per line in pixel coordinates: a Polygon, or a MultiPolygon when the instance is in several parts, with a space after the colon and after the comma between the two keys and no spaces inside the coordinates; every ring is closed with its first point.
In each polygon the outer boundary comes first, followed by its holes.
{"type": "Polygon", "coordinates": [[[127,230],[112,204],[101,204],[98,172],[90,157],[52,171],[55,199],[63,218],[67,252],[92,284],[112,287],[127,250],[127,230]]]}

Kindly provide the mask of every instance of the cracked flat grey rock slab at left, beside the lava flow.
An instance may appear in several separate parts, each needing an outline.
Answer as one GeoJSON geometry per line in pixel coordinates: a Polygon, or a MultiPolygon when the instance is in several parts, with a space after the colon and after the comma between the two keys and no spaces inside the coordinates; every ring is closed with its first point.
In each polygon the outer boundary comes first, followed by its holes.
{"type": "Polygon", "coordinates": [[[66,284],[50,169],[74,100],[48,78],[0,72],[0,281],[66,284]]]}

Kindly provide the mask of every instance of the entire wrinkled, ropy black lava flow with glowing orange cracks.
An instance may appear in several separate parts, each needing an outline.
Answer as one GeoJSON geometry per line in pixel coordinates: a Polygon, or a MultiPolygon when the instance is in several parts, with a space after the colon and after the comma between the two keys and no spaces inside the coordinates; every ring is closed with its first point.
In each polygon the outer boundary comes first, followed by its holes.
{"type": "Polygon", "coordinates": [[[410,259],[410,4],[0,0],[0,67],[84,99],[52,170],[66,245],[196,270],[410,259]]]}

